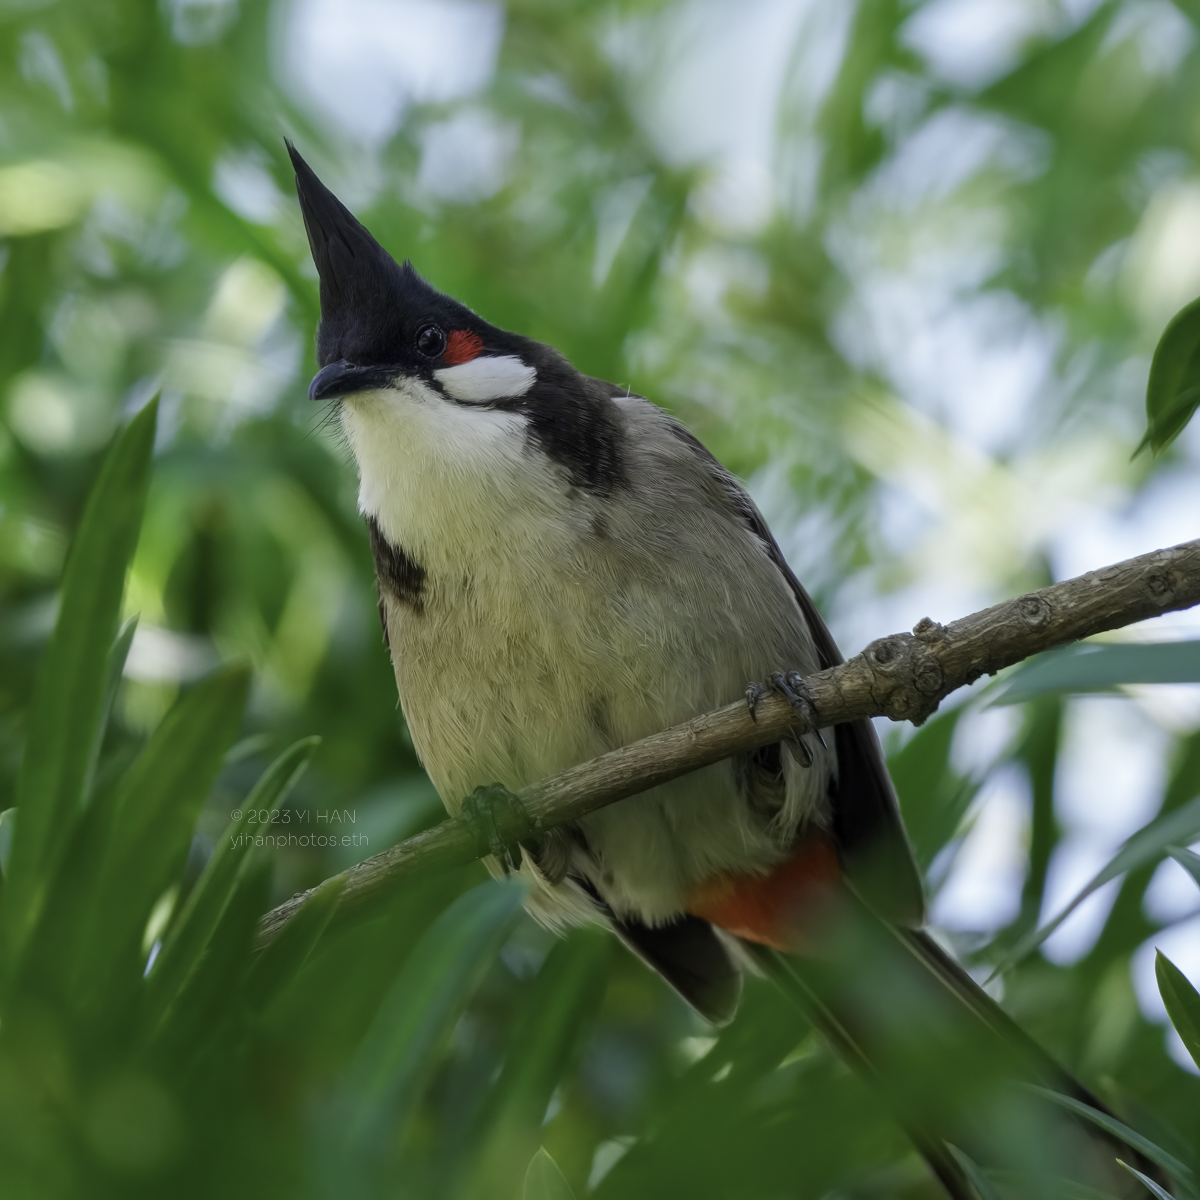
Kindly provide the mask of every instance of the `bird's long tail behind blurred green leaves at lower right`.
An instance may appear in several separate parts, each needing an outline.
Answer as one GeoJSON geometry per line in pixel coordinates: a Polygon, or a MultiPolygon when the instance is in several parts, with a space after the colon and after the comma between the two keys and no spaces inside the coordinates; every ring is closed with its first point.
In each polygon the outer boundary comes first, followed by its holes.
{"type": "Polygon", "coordinates": [[[1122,1162],[1169,1194],[1164,1172],[1111,1132],[1109,1109],[928,934],[852,896],[838,907],[803,954],[748,948],[882,1094],[948,1195],[1147,1195],[1122,1162]]]}

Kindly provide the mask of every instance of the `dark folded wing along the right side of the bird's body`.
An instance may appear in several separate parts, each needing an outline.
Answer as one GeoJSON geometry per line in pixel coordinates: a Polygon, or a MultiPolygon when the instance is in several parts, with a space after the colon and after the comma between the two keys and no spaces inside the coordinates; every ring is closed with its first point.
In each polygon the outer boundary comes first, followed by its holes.
{"type": "MultiPolygon", "coordinates": [[[[842,662],[838,643],[812,598],[787,565],[779,542],[754,500],[698,438],[677,421],[671,421],[671,428],[704,464],[731,509],[762,542],[770,560],[787,580],[812,634],[822,670],[842,662]]],[[[881,916],[898,924],[922,925],[925,920],[924,887],[875,727],[868,720],[847,721],[835,726],[834,739],[838,780],[830,799],[834,838],[842,866],[881,916]]]]}

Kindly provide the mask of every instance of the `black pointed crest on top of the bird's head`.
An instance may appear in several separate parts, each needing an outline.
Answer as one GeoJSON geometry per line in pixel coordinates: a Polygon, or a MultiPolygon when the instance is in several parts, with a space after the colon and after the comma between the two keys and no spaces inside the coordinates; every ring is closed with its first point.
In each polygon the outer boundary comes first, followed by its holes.
{"type": "Polygon", "coordinates": [[[433,289],[413,268],[401,266],[287,143],[308,247],[320,276],[317,358],[370,362],[390,341],[384,325],[414,290],[433,289]]]}

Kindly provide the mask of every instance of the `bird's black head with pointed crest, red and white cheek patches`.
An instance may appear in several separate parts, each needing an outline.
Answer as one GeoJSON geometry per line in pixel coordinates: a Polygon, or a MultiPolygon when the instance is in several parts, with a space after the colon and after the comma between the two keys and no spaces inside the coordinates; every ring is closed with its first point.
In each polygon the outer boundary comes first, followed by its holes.
{"type": "Polygon", "coordinates": [[[353,402],[403,394],[456,409],[461,419],[443,427],[458,430],[472,410],[511,414],[524,442],[571,484],[589,491],[616,486],[617,389],[581,376],[551,347],[488,324],[426,283],[410,263],[397,263],[290,143],[288,152],[320,277],[320,370],[310,397],[353,402]]]}

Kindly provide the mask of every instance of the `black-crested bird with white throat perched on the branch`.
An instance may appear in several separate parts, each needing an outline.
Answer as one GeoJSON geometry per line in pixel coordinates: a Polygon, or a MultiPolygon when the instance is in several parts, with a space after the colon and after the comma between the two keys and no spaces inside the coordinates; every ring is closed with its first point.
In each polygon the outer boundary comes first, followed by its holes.
{"type": "MultiPolygon", "coordinates": [[[[924,930],[875,728],[817,731],[804,679],[841,654],[742,484],[649,400],[396,262],[287,149],[319,277],[308,394],[338,407],[401,707],[449,812],[734,701],[752,714],[776,691],[796,709],[792,736],[490,869],[520,874],[551,929],[607,925],[714,1024],[746,970],[818,946],[822,911],[848,894],[901,959],[1102,1109],[924,930]]],[[[811,979],[793,990],[854,1057],[852,1024],[811,979]]],[[[914,1140],[950,1195],[974,1195],[942,1141],[914,1140]]]]}

